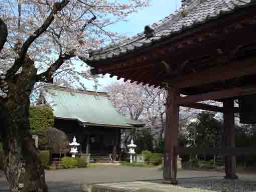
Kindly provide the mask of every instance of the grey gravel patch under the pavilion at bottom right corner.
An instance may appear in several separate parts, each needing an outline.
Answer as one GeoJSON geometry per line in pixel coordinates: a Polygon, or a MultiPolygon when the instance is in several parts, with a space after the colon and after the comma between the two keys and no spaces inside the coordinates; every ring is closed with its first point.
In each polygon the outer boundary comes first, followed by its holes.
{"type": "Polygon", "coordinates": [[[198,188],[218,192],[255,192],[256,182],[243,180],[215,179],[184,179],[178,186],[185,188],[198,188]]]}

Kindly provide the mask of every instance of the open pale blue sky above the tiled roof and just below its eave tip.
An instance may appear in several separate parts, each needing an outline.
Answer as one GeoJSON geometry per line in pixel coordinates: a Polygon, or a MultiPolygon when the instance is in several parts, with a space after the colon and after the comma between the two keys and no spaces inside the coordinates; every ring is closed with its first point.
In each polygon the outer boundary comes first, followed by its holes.
{"type": "MultiPolygon", "coordinates": [[[[150,7],[139,10],[138,13],[131,15],[127,21],[111,26],[110,30],[124,34],[127,37],[134,36],[143,32],[146,25],[152,25],[175,12],[176,9],[180,8],[181,3],[180,0],[151,0],[150,5],[150,7]]],[[[109,78],[108,75],[105,75],[104,78],[99,79],[101,86],[98,90],[101,91],[104,86],[114,81],[116,81],[115,78],[109,78]]],[[[88,90],[93,90],[92,82],[86,82],[85,85],[88,90]]]]}

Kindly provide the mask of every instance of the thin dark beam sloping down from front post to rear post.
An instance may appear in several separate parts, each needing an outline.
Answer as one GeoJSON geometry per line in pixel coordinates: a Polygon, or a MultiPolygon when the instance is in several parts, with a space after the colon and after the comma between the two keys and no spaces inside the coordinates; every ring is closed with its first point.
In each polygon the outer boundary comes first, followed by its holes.
{"type": "MultiPolygon", "coordinates": [[[[200,109],[200,110],[206,110],[206,111],[214,111],[214,112],[223,112],[223,107],[215,106],[215,105],[208,105],[204,103],[189,103],[189,104],[181,104],[181,107],[188,107],[193,109],[200,109]]],[[[239,113],[239,108],[234,107],[234,113],[239,113]]]]}

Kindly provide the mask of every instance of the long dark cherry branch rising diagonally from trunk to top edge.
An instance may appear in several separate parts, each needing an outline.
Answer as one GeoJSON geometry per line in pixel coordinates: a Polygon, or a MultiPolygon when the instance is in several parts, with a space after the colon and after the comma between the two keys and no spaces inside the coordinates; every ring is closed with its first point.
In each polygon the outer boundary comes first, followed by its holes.
{"type": "Polygon", "coordinates": [[[31,35],[26,42],[23,44],[20,54],[19,54],[19,58],[16,59],[14,65],[8,70],[7,72],[7,76],[12,76],[14,75],[23,65],[23,60],[26,57],[26,54],[28,52],[28,49],[30,47],[30,45],[40,36],[42,35],[47,28],[52,24],[52,22],[54,21],[54,16],[62,11],[62,9],[70,2],[70,0],[63,0],[62,2],[58,2],[53,6],[53,10],[50,13],[50,15],[48,16],[48,18],[45,20],[44,24],[38,29],[36,30],[33,35],[31,35]]]}

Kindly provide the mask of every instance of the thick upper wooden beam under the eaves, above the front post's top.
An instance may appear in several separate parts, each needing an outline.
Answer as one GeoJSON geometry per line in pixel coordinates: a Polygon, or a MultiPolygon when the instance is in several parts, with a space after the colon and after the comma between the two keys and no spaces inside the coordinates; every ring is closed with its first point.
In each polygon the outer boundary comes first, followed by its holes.
{"type": "MultiPolygon", "coordinates": [[[[230,62],[230,61],[226,61],[230,62]]],[[[231,64],[211,67],[208,70],[198,73],[192,73],[185,76],[179,76],[170,81],[170,86],[177,88],[195,87],[207,83],[214,83],[233,79],[237,77],[243,77],[246,75],[256,74],[256,57],[252,57],[246,60],[233,61],[231,64]]]]}

